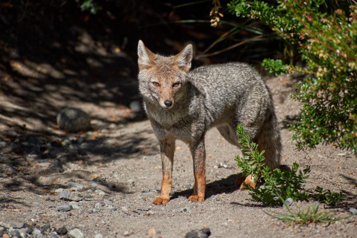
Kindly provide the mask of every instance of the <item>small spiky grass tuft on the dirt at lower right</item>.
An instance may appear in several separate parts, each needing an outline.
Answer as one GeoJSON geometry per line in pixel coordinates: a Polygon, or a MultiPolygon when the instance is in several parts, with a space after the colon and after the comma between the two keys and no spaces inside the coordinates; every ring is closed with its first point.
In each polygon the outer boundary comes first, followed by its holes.
{"type": "Polygon", "coordinates": [[[294,224],[307,225],[310,223],[331,223],[331,222],[336,222],[348,218],[348,217],[333,218],[334,216],[333,212],[319,211],[318,204],[313,204],[312,206],[307,205],[303,210],[298,209],[297,211],[293,211],[282,198],[281,200],[284,203],[286,209],[288,210],[287,214],[279,213],[275,211],[273,211],[272,214],[267,212],[266,214],[280,221],[289,222],[292,225],[294,224]]]}

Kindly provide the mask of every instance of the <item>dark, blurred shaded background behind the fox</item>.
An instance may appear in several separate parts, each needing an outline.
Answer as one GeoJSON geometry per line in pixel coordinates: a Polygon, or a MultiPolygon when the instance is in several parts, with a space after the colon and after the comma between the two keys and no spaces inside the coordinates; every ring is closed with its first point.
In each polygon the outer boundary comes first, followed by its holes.
{"type": "MultiPolygon", "coordinates": [[[[0,90],[2,97],[7,95],[2,99],[37,110],[2,107],[2,119],[20,123],[14,116],[31,116],[53,125],[61,107],[83,108],[78,102],[102,102],[102,106],[109,102],[117,109],[128,108],[130,102],[140,100],[136,82],[139,39],[164,55],[177,54],[186,44],[193,44],[193,67],[245,61],[263,72],[261,60],[284,52],[284,43],[259,21],[230,13],[227,3],[0,1],[0,90]]],[[[91,110],[91,114],[99,111],[94,114],[101,117],[100,108],[91,110]]],[[[112,117],[120,120],[121,116],[112,117]]],[[[26,122],[31,124],[35,126],[33,121],[26,122]]]]}

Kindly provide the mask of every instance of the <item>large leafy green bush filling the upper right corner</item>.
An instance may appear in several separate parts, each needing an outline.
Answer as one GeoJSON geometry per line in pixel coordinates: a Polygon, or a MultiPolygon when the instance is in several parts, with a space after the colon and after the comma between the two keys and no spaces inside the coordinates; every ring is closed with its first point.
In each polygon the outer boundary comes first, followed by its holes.
{"type": "Polygon", "coordinates": [[[301,55],[303,67],[263,61],[276,75],[284,71],[305,75],[292,95],[302,102],[291,126],[297,147],[331,143],[357,152],[356,2],[233,0],[228,7],[239,17],[260,19],[301,55]]]}

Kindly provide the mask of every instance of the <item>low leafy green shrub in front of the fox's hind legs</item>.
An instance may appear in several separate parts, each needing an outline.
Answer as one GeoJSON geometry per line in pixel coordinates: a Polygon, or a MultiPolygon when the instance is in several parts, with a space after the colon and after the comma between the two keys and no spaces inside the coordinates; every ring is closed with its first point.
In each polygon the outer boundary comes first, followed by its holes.
{"type": "Polygon", "coordinates": [[[320,202],[327,204],[336,204],[344,199],[342,192],[331,192],[316,187],[314,193],[306,192],[303,187],[306,179],[309,177],[310,167],[299,170],[299,165],[295,162],[293,167],[288,171],[274,169],[273,171],[264,163],[264,151],[257,150],[258,145],[250,141],[249,135],[244,133],[241,125],[237,126],[237,133],[240,138],[238,143],[242,147],[243,157],[237,156],[238,167],[242,169],[245,175],[253,175],[254,182],[264,184],[261,186],[251,187],[243,183],[250,195],[256,201],[262,202],[265,206],[282,205],[282,199],[292,198],[294,200],[306,200],[308,198],[318,199],[320,202]]]}

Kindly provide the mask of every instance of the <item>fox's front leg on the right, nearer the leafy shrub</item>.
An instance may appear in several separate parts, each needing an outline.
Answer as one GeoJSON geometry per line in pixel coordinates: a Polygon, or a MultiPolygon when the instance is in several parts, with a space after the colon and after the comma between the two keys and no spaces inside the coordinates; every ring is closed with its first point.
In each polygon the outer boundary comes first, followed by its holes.
{"type": "Polygon", "coordinates": [[[198,143],[190,145],[193,159],[194,187],[193,194],[188,200],[193,202],[203,202],[206,189],[206,149],[204,138],[198,143]]]}

